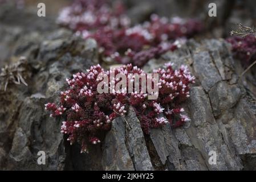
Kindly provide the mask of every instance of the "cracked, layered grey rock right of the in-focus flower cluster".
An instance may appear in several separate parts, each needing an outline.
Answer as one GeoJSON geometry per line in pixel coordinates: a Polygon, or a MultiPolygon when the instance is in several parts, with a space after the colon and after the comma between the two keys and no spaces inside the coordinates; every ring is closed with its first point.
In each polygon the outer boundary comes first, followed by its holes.
{"type": "MultiPolygon", "coordinates": [[[[151,132],[161,164],[177,170],[255,169],[255,110],[234,72],[228,45],[220,40],[190,41],[184,51],[162,59],[190,64],[198,85],[184,104],[190,125],[151,132]],[[208,162],[210,151],[217,154],[216,165],[208,162]]],[[[157,63],[151,60],[145,68],[159,67],[157,63]]]]}

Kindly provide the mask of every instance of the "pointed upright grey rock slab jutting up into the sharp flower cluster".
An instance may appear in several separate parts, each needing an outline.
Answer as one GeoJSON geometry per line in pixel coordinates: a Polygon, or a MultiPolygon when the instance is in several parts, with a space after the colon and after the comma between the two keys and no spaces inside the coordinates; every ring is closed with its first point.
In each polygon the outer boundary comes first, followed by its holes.
{"type": "Polygon", "coordinates": [[[153,166],[135,111],[113,120],[106,135],[103,164],[110,170],[152,170],[153,166]],[[113,145],[113,143],[116,143],[113,145]]]}

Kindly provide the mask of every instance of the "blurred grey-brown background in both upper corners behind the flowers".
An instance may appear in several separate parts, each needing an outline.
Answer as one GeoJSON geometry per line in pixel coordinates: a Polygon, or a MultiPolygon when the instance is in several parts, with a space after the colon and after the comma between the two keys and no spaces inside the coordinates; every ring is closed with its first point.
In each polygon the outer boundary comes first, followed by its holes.
{"type": "MultiPolygon", "coordinates": [[[[148,20],[152,13],[168,18],[201,19],[206,27],[201,38],[226,38],[236,27],[236,23],[255,25],[256,1],[253,0],[123,0],[132,23],[148,20]],[[208,16],[208,5],[217,5],[217,17],[208,16]]],[[[72,0],[0,0],[0,66],[10,55],[12,46],[19,35],[31,31],[46,34],[58,28],[56,18],[59,11],[72,3],[72,0]],[[37,5],[46,5],[46,17],[37,16],[37,5]]]]}

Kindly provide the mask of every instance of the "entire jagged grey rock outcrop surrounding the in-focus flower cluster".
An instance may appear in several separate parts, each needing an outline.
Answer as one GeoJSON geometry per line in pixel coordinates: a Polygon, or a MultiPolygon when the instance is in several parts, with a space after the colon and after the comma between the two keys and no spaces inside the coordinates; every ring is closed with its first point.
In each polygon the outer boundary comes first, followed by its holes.
{"type": "Polygon", "coordinates": [[[70,146],[60,134],[62,119],[50,118],[44,104],[57,101],[66,77],[97,64],[95,40],[84,41],[64,29],[42,34],[35,28],[22,36],[24,27],[2,27],[7,36],[0,38],[1,60],[15,63],[26,56],[31,76],[29,86],[9,84],[0,92],[0,169],[256,169],[254,90],[243,86],[241,66],[224,40],[190,40],[143,68],[151,72],[169,61],[176,67],[189,65],[197,80],[182,106],[191,119],[185,126],[166,125],[144,135],[130,107],[125,117],[113,121],[101,144],[80,154],[79,144],[70,146]],[[45,165],[38,164],[38,151],[46,152],[45,165]],[[212,152],[216,164],[209,163],[212,152]]]}

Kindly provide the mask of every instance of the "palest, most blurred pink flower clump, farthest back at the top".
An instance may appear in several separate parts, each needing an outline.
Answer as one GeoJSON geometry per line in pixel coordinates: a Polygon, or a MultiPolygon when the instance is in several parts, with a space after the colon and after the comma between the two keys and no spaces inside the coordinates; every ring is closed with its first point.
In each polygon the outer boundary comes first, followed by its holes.
{"type": "Polygon", "coordinates": [[[76,31],[127,27],[130,19],[124,10],[120,2],[112,6],[107,0],[75,0],[60,12],[57,23],[76,31]]]}

